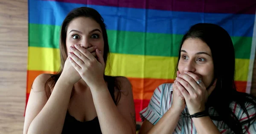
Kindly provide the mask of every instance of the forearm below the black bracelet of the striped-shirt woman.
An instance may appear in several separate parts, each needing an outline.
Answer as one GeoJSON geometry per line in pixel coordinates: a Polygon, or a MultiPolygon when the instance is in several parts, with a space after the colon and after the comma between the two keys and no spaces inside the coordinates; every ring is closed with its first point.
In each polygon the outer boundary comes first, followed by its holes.
{"type": "Polygon", "coordinates": [[[220,134],[209,116],[192,118],[192,120],[198,134],[220,134]]]}

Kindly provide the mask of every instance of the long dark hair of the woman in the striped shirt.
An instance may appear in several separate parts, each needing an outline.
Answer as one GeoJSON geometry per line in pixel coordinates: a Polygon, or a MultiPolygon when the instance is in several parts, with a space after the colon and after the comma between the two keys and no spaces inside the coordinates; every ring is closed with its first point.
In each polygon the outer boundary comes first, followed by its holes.
{"type": "MultiPolygon", "coordinates": [[[[179,49],[183,42],[188,38],[201,39],[205,42],[211,52],[214,65],[214,77],[217,78],[215,89],[206,103],[206,109],[213,107],[218,116],[209,115],[212,120],[224,121],[235,134],[245,133],[252,122],[256,120],[256,115],[249,116],[245,104],[251,103],[256,107],[256,98],[245,92],[238,92],[235,85],[235,50],[232,39],[228,32],[218,25],[210,23],[198,23],[192,25],[189,31],[183,36],[179,49]],[[229,53],[227,55],[227,53],[229,53]],[[227,55],[228,59],[223,60],[227,55]],[[237,103],[246,113],[248,120],[240,122],[233,111],[230,109],[230,103],[237,103]],[[243,132],[242,126],[247,124],[246,131],[243,132]]],[[[178,63],[178,62],[177,62],[178,63]]],[[[178,70],[178,64],[176,71],[178,70]]],[[[176,73],[174,73],[176,76],[176,73]]],[[[213,82],[212,82],[213,83],[213,82]]],[[[211,86],[211,85],[210,85],[211,86]]]]}

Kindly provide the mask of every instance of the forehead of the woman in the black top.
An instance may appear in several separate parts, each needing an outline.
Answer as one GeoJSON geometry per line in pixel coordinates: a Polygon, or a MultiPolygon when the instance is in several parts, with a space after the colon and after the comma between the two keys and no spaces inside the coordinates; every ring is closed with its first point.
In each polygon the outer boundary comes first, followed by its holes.
{"type": "Polygon", "coordinates": [[[102,31],[99,23],[89,17],[77,17],[73,19],[68,25],[67,32],[72,29],[76,29],[79,31],[91,31],[94,29],[99,29],[100,31],[102,31]]]}

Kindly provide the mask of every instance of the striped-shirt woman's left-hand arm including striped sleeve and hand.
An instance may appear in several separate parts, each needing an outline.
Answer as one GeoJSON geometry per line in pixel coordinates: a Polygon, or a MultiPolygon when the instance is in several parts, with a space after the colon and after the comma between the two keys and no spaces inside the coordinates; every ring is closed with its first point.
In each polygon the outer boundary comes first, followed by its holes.
{"type": "Polygon", "coordinates": [[[180,119],[180,114],[185,108],[185,101],[177,89],[176,84],[172,84],[172,87],[163,85],[164,84],[160,85],[157,87],[157,89],[154,90],[148,107],[146,110],[144,109],[141,112],[143,119],[146,117],[147,120],[143,122],[143,125],[140,129],[140,134],[170,134],[175,131],[178,120],[180,119]],[[166,100],[164,99],[164,101],[162,101],[163,99],[161,99],[161,96],[169,93],[169,90],[171,91],[170,98],[166,98],[166,100]],[[163,109],[163,107],[160,107],[162,106],[161,103],[166,103],[166,101],[170,102],[172,106],[166,113],[163,114],[163,117],[160,118],[160,109],[163,109]],[[157,117],[157,120],[160,118],[158,122],[152,120],[157,117]],[[154,123],[156,123],[155,126],[153,125],[154,123]],[[168,127],[166,127],[166,124],[168,124],[168,127]]]}

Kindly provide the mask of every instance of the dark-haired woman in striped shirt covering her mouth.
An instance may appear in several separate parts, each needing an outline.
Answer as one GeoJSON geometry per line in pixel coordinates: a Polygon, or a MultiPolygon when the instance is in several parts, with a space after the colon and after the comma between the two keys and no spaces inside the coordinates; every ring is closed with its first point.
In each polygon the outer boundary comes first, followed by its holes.
{"type": "Polygon", "coordinates": [[[235,87],[235,52],[218,25],[183,36],[177,77],[157,87],[140,112],[140,134],[256,134],[256,98],[235,87]]]}

